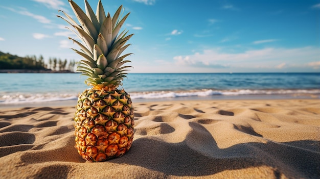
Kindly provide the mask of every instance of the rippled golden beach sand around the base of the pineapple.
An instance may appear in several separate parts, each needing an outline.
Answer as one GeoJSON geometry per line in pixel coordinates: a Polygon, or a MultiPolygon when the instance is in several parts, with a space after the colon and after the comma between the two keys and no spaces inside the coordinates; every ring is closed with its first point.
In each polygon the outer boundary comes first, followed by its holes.
{"type": "Polygon", "coordinates": [[[134,110],[127,154],[90,163],[74,148],[74,107],[0,109],[0,178],[320,178],[319,99],[160,101],[134,110]]]}

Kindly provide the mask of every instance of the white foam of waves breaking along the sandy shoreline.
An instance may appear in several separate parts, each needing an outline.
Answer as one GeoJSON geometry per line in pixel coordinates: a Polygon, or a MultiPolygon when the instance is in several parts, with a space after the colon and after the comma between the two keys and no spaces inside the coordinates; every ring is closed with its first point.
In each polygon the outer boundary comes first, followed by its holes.
{"type": "MultiPolygon", "coordinates": [[[[315,94],[320,95],[320,89],[272,89],[272,90],[189,90],[189,91],[150,91],[150,92],[131,92],[132,99],[156,99],[156,98],[177,98],[193,96],[240,96],[240,95],[295,95],[295,94],[315,94]]],[[[0,93],[0,104],[24,104],[24,103],[41,103],[49,101],[77,100],[77,94],[58,94],[58,93],[0,93]]]]}

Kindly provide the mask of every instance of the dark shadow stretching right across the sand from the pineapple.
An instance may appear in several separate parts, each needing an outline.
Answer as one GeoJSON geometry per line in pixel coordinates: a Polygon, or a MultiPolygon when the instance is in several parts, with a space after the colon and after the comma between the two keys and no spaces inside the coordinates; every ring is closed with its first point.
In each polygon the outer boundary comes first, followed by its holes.
{"type": "Polygon", "coordinates": [[[289,178],[320,176],[315,172],[320,166],[316,149],[319,141],[249,142],[219,148],[205,127],[197,122],[189,125],[192,132],[182,142],[172,144],[139,138],[125,156],[108,162],[141,166],[175,176],[205,176],[259,166],[273,168],[276,178],[280,178],[281,173],[289,178]],[[301,173],[303,175],[298,176],[301,173]]]}

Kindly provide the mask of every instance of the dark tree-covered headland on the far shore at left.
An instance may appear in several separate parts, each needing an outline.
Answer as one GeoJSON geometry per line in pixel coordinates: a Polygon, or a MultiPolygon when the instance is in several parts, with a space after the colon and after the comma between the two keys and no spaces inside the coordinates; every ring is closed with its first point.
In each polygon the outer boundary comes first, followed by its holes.
{"type": "Polygon", "coordinates": [[[0,52],[0,70],[45,70],[45,71],[74,71],[75,61],[67,63],[57,58],[50,58],[45,63],[42,55],[18,57],[0,52]]]}

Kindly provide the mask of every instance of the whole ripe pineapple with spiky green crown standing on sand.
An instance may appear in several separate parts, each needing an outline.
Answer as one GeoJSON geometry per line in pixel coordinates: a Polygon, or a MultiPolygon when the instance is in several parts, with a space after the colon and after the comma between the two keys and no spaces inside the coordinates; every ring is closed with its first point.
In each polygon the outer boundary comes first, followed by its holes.
{"type": "Polygon", "coordinates": [[[123,89],[123,78],[130,61],[124,60],[131,55],[120,57],[130,45],[125,43],[133,35],[128,31],[119,34],[121,26],[129,13],[120,17],[122,6],[113,17],[104,12],[101,1],[96,14],[85,0],[85,12],[72,0],[69,3],[80,25],[62,12],[81,42],[70,38],[80,46],[73,49],[82,56],[77,71],[88,76],[85,83],[92,88],[84,90],[78,98],[75,112],[75,147],[83,159],[90,162],[101,162],[124,155],[131,147],[133,140],[133,106],[130,95],[123,89]]]}

